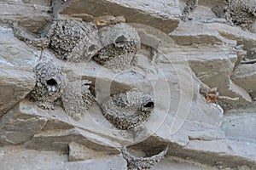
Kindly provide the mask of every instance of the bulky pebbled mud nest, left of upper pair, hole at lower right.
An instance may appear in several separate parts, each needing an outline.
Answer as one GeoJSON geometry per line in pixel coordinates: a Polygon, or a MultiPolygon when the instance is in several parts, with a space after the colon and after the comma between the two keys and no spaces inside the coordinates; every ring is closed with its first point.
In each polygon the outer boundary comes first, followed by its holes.
{"type": "Polygon", "coordinates": [[[68,61],[90,59],[98,48],[95,25],[77,20],[59,20],[53,25],[49,48],[58,58],[68,61]]]}

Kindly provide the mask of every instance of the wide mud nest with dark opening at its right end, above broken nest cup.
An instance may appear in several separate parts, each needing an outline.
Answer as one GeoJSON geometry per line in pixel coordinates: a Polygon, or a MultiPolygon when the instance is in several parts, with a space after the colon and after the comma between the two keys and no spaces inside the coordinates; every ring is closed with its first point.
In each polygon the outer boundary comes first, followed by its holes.
{"type": "Polygon", "coordinates": [[[138,127],[154,110],[154,98],[138,91],[114,94],[102,103],[102,114],[122,130],[138,127]]]}

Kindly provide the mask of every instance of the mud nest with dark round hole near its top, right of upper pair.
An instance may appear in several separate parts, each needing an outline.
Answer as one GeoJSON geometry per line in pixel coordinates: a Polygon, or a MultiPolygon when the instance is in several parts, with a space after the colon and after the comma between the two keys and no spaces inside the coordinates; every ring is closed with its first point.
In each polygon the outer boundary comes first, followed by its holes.
{"type": "Polygon", "coordinates": [[[125,23],[104,27],[98,35],[102,48],[93,59],[111,71],[124,70],[140,49],[137,31],[125,23]]]}

